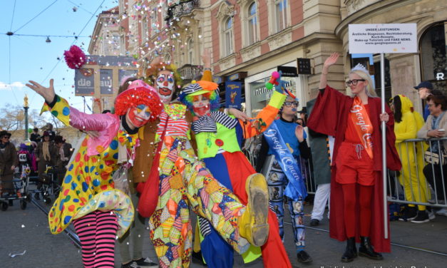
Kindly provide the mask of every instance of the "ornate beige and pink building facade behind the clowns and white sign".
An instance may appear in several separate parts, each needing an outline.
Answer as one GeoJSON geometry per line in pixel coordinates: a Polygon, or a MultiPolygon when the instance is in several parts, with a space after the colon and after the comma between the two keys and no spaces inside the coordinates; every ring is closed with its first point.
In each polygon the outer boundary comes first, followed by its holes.
{"type": "MultiPolygon", "coordinates": [[[[334,51],[341,60],[329,84],[349,93],[344,81],[359,55],[349,54],[349,24],[416,23],[418,53],[386,54],[387,96],[404,93],[416,108],[416,86],[431,81],[446,90],[447,0],[120,0],[121,53],[141,67],[160,56],[179,67],[186,81],[201,71],[200,55],[211,52],[212,71],[225,92],[225,81],[239,81],[245,107],[256,113],[269,98],[264,88],[278,66],[297,67],[309,58],[311,74],[284,77],[305,106],[317,96],[319,73],[334,51]]],[[[366,55],[379,88],[379,56],[366,55]]],[[[355,64],[354,64],[355,63],[355,64]]]]}

